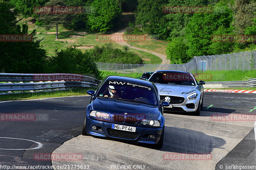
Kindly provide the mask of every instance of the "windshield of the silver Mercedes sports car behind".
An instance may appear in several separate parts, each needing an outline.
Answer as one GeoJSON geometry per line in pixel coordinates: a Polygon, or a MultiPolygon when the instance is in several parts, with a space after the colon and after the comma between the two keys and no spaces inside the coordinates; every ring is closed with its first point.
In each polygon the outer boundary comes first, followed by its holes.
{"type": "Polygon", "coordinates": [[[149,81],[159,84],[196,85],[189,73],[155,73],[149,81]]]}

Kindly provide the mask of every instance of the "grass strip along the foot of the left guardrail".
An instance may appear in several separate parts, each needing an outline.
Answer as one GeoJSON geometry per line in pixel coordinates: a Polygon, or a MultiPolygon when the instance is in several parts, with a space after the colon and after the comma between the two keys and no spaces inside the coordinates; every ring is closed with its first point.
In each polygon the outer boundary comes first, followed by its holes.
{"type": "Polygon", "coordinates": [[[74,89],[69,89],[69,90],[52,91],[52,92],[4,94],[4,95],[0,95],[0,101],[81,96],[81,95],[87,95],[87,93],[86,93],[87,90],[95,90],[95,88],[74,88],[74,89]]]}

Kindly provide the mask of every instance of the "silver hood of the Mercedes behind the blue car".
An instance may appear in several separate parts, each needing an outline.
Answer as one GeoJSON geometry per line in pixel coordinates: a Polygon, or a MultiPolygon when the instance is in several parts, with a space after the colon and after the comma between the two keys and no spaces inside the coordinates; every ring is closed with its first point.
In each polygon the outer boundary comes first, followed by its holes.
{"type": "Polygon", "coordinates": [[[190,92],[196,88],[196,85],[171,85],[171,84],[158,84],[155,83],[158,92],[171,92],[172,94],[183,94],[190,92]]]}

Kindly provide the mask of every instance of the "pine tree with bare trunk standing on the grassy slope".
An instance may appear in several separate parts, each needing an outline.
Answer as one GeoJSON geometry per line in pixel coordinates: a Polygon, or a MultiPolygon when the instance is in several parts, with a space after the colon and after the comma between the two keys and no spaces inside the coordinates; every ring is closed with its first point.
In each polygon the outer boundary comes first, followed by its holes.
{"type": "MultiPolygon", "coordinates": [[[[45,6],[65,6],[65,0],[50,0],[45,4],[45,6]]],[[[46,13],[46,14],[38,14],[37,20],[39,22],[44,22],[44,27],[46,30],[50,30],[52,27],[56,27],[56,36],[55,40],[58,40],[58,26],[60,24],[67,23],[67,15],[68,14],[52,14],[52,13],[46,13]]]]}

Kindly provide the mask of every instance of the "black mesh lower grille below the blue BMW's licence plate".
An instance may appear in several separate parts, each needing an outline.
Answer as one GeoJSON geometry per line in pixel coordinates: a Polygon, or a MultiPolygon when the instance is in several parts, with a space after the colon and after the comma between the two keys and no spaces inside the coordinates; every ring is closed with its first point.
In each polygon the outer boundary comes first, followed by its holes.
{"type": "Polygon", "coordinates": [[[107,130],[110,136],[127,138],[127,139],[136,139],[140,134],[138,132],[127,132],[127,131],[117,130],[117,129],[107,129],[107,130]]]}

